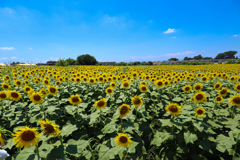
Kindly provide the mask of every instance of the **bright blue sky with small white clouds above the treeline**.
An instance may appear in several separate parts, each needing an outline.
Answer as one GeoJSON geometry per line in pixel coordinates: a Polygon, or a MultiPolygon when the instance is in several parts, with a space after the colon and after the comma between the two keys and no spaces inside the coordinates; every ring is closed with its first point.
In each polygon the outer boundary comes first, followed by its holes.
{"type": "Polygon", "coordinates": [[[239,17],[239,0],[0,0],[0,63],[215,57],[240,52],[239,17]]]}

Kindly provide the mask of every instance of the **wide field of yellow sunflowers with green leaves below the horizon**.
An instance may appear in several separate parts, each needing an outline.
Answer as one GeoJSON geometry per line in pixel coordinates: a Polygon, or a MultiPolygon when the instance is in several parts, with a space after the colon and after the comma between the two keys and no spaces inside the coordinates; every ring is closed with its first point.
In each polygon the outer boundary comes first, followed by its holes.
{"type": "Polygon", "coordinates": [[[240,159],[240,65],[0,67],[6,160],[240,159]]]}

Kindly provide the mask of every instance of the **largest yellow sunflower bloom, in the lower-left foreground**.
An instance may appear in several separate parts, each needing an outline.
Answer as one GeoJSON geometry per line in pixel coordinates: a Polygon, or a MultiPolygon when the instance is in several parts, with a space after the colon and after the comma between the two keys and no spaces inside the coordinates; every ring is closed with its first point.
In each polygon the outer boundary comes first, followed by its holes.
{"type": "Polygon", "coordinates": [[[18,128],[20,131],[15,131],[13,142],[16,147],[25,148],[30,147],[31,145],[38,145],[38,138],[40,139],[39,133],[35,128],[18,128]]]}

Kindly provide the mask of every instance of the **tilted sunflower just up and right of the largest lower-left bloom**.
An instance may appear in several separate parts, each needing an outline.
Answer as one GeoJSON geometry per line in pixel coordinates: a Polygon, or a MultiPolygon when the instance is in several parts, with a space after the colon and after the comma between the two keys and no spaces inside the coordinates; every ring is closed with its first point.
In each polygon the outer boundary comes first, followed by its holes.
{"type": "Polygon", "coordinates": [[[47,118],[44,120],[38,120],[38,123],[40,123],[42,129],[42,132],[47,134],[48,136],[53,135],[57,136],[61,133],[59,130],[59,125],[56,125],[54,122],[48,121],[47,118]]]}

